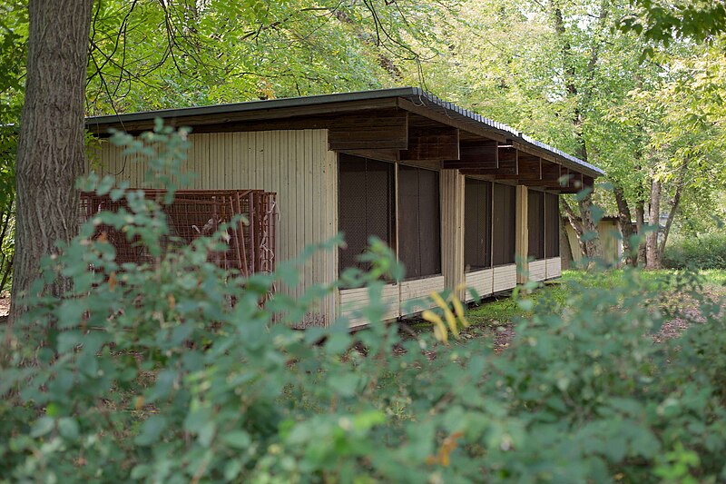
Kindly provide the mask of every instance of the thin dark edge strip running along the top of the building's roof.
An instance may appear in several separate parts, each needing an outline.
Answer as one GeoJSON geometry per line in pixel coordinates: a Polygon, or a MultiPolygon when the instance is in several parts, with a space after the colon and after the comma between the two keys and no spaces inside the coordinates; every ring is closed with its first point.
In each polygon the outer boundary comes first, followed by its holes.
{"type": "Polygon", "coordinates": [[[456,117],[460,120],[465,121],[466,123],[476,123],[479,125],[483,124],[487,129],[490,129],[495,133],[504,135],[508,139],[517,141],[519,143],[524,143],[525,145],[531,146],[536,149],[544,150],[546,152],[554,154],[556,157],[561,158],[566,162],[573,163],[574,165],[577,165],[578,168],[584,169],[584,172],[587,172],[585,174],[591,176],[599,176],[604,174],[603,170],[594,166],[593,164],[584,162],[579,158],[564,153],[563,151],[554,148],[554,146],[538,142],[534,138],[527,136],[525,133],[516,131],[515,128],[512,128],[511,126],[508,126],[504,123],[497,123],[491,119],[482,116],[481,114],[476,114],[472,111],[459,107],[456,104],[446,102],[433,94],[428,94],[426,91],[419,87],[394,87],[389,89],[377,89],[372,91],[358,91],[354,93],[317,94],[303,97],[286,97],[262,101],[248,101],[244,103],[234,104],[214,104],[210,106],[162,109],[158,111],[142,111],[130,114],[108,114],[103,116],[89,116],[86,118],[85,123],[87,126],[112,123],[131,123],[134,121],[151,121],[152,119],[159,116],[163,118],[184,118],[187,116],[202,114],[243,113],[246,111],[255,111],[260,109],[268,110],[276,108],[310,106],[316,104],[367,101],[392,97],[402,97],[408,99],[411,102],[426,105],[428,108],[434,108],[438,111],[443,111],[444,114],[451,117],[456,117]]]}

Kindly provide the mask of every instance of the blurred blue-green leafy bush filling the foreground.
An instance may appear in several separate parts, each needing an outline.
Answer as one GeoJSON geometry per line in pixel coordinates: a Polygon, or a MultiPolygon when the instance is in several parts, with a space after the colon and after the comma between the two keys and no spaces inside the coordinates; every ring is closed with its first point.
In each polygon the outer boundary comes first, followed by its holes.
{"type": "MultiPolygon", "coordinates": [[[[165,131],[147,138],[183,146],[165,131]]],[[[221,234],[164,252],[159,205],[113,196],[132,212],[96,221],[141,234],[157,262],[119,272],[88,224],[44,263],[42,282],[67,277],[75,289],[28,301],[2,349],[2,481],[726,479],[717,307],[704,302],[708,321],[654,344],[668,315],[627,271],[607,291],[573,283],[564,301],[537,304],[546,311],[520,300],[533,313],[500,355],[484,339],[446,346],[379,323],[293,331],[273,316],[300,318],[334,286],[260,300],[295,284],[305,255],[243,280],[208,262],[221,234]],[[435,359],[422,351],[432,349],[435,359]]],[[[380,291],[395,261],[373,254],[372,272],[348,272],[345,284],[380,291]]],[[[364,312],[378,321],[384,310],[364,312]]]]}

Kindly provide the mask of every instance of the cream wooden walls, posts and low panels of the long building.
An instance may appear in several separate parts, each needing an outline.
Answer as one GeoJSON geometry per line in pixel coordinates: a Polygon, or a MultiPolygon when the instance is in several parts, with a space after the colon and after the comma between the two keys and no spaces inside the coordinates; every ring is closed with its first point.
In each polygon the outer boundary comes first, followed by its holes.
{"type": "MultiPolygon", "coordinates": [[[[305,246],[327,241],[338,232],[338,156],[328,149],[327,130],[198,133],[191,134],[190,138],[192,145],[183,169],[196,173],[196,177],[182,188],[263,189],[278,193],[279,262],[296,257],[305,246]]],[[[127,180],[132,187],[152,188],[144,178],[142,163],[124,156],[110,143],[103,143],[101,160],[96,165],[97,171],[127,180]]],[[[464,282],[476,287],[481,295],[515,287],[515,264],[464,273],[465,177],[458,170],[442,170],[440,190],[442,275],[388,284],[383,294],[383,299],[391,304],[388,318],[405,315],[402,314],[405,306],[426,298],[430,291],[454,289],[464,282]]],[[[525,261],[527,188],[524,185],[516,188],[515,212],[516,253],[525,261]]],[[[537,280],[557,277],[559,260],[534,263],[530,272],[534,272],[532,275],[537,280]]],[[[298,297],[314,283],[334,282],[338,277],[338,252],[317,253],[300,273],[297,286],[280,288],[280,291],[298,297]]],[[[463,291],[459,296],[465,297],[463,291]]],[[[468,294],[466,299],[471,299],[468,294]]],[[[354,311],[366,304],[365,289],[338,291],[310,312],[303,325],[328,324],[336,313],[354,311]]],[[[421,304],[417,306],[418,311],[424,309],[421,304]]],[[[363,322],[351,321],[351,325],[363,322]]]]}

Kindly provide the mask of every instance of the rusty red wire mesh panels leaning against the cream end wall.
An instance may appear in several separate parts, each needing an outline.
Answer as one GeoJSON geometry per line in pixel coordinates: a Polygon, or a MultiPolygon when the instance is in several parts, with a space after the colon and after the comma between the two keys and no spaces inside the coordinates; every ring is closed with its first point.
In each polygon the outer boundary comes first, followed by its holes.
{"type": "MultiPolygon", "coordinates": [[[[163,190],[142,190],[147,198],[162,200],[163,190]]],[[[89,220],[95,213],[129,210],[125,200],[113,201],[108,195],[81,193],[80,221],[89,220]]],[[[180,190],[173,202],[162,204],[169,227],[169,238],[164,243],[190,244],[202,236],[209,236],[225,223],[227,250],[213,252],[211,262],[222,269],[238,270],[243,275],[275,270],[275,244],[277,234],[276,194],[262,190],[180,190]],[[235,221],[241,215],[243,218],[235,221]]],[[[96,227],[96,234],[105,237],[116,251],[116,262],[152,262],[148,248],[138,236],[132,238],[108,225],[96,227]]]]}

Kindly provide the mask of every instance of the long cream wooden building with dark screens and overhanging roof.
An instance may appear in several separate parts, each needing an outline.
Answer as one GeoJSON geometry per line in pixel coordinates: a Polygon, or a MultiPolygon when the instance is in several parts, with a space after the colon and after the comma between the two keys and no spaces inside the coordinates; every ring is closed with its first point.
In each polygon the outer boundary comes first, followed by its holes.
{"type": "MultiPolygon", "coordinates": [[[[405,280],[383,294],[391,319],[424,309],[409,303],[430,291],[465,282],[481,295],[510,290],[524,282],[517,256],[532,259],[531,278],[558,277],[558,193],[574,193],[603,173],[412,87],[99,116],[86,124],[100,136],[109,128],[139,133],[156,117],[193,130],[185,168],[197,177],[188,188],[278,194],[279,260],[344,233],[348,247],[316,255],[299,287],[284,289],[291,295],[358,264],[368,236],[388,242],[407,268],[405,280]]],[[[103,174],[146,187],[142,167],[121,150],[103,143],[102,152],[103,174]]],[[[329,323],[367,301],[365,289],[338,291],[306,323],[329,323]]]]}

